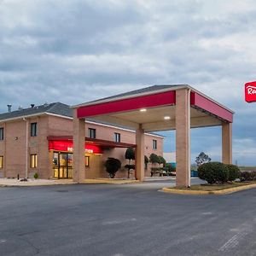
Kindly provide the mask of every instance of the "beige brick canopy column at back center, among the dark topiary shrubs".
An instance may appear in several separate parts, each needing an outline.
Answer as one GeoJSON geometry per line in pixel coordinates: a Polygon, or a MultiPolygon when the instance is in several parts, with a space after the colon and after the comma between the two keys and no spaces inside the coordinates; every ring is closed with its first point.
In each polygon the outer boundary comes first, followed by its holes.
{"type": "Polygon", "coordinates": [[[139,129],[136,130],[136,145],[137,148],[135,150],[135,162],[136,162],[136,179],[143,181],[144,180],[144,130],[142,129],[142,125],[140,125],[139,129]]]}

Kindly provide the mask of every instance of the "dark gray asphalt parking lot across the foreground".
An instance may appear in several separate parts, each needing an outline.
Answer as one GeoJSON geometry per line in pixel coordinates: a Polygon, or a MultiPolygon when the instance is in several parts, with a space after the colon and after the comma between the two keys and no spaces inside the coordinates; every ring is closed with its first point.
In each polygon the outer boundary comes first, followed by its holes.
{"type": "Polygon", "coordinates": [[[0,255],[256,255],[256,189],[157,191],[171,183],[0,188],[0,255]]]}

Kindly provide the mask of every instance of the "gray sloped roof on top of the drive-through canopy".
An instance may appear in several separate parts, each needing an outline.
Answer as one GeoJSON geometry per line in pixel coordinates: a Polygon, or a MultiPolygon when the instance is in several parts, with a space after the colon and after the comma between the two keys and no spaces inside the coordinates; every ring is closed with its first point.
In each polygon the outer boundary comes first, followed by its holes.
{"type": "MultiPolygon", "coordinates": [[[[98,99],[96,101],[92,101],[92,102],[101,102],[104,100],[110,100],[110,99],[114,99],[114,98],[119,98],[119,97],[125,97],[125,96],[133,96],[133,95],[138,95],[138,94],[142,94],[142,93],[147,93],[147,92],[151,92],[151,91],[155,91],[155,90],[163,90],[163,89],[168,89],[168,88],[175,88],[177,86],[188,86],[188,84],[162,84],[162,85],[152,85],[149,87],[145,87],[142,89],[137,89],[137,90],[131,90],[125,93],[120,93],[114,96],[108,96],[105,98],[101,98],[98,99]]],[[[92,102],[86,102],[86,103],[92,103],[92,102]]]]}

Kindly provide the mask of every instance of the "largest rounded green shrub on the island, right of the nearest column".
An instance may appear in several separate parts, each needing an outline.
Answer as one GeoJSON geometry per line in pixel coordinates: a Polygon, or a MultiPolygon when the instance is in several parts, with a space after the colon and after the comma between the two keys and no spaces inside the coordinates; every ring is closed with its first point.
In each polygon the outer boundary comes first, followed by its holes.
{"type": "Polygon", "coordinates": [[[198,167],[198,177],[207,183],[226,183],[229,180],[229,169],[220,162],[208,162],[198,167]]]}

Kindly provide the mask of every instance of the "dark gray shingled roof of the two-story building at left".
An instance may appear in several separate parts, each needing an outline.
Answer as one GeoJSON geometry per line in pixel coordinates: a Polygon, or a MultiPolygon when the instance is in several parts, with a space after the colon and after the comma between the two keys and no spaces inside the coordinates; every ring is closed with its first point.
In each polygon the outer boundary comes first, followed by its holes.
{"type": "Polygon", "coordinates": [[[20,110],[15,110],[10,113],[1,113],[0,120],[3,119],[14,119],[23,116],[36,115],[41,113],[55,113],[68,117],[73,117],[73,110],[69,108],[68,105],[61,102],[54,102],[50,104],[44,104],[40,106],[35,106],[34,108],[23,108],[20,110]]]}

